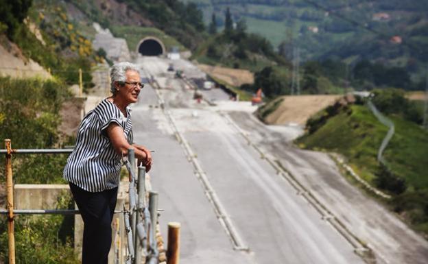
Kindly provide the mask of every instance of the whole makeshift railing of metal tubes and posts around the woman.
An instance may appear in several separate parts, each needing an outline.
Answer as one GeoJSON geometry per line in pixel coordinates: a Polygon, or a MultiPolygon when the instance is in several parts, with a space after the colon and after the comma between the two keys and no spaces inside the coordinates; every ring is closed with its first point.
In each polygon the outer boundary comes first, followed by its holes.
{"type": "MultiPolygon", "coordinates": [[[[5,176],[7,189],[7,206],[0,209],[0,215],[8,215],[8,250],[9,263],[15,264],[15,239],[14,239],[14,215],[76,215],[78,210],[14,210],[13,179],[12,179],[12,154],[69,154],[73,149],[12,149],[10,139],[5,139],[5,149],[0,149],[0,154],[5,154],[5,176]]],[[[146,201],[145,167],[138,167],[135,173],[134,149],[129,149],[128,157],[123,158],[130,173],[129,183],[129,207],[123,206],[122,213],[127,232],[128,246],[126,252],[126,264],[157,264],[159,262],[159,250],[156,241],[156,224],[158,221],[158,193],[150,191],[146,201]],[[144,260],[143,260],[144,258],[144,260]],[[144,262],[143,262],[144,261],[144,262]]],[[[118,224],[118,223],[117,223],[118,224]]],[[[169,223],[167,263],[178,263],[179,257],[179,224],[169,223]]],[[[117,250],[115,250],[117,251],[117,250]]],[[[115,254],[118,258],[119,254],[115,254]]],[[[119,263],[117,259],[115,263],[119,263]]]]}

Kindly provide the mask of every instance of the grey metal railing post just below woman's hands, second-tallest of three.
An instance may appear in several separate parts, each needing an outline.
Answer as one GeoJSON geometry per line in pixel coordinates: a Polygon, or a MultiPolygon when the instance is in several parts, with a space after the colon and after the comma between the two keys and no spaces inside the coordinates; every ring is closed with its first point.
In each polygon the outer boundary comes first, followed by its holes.
{"type": "MultiPolygon", "coordinates": [[[[137,230],[139,231],[138,237],[142,239],[145,237],[145,234],[143,231],[143,224],[141,224],[141,221],[143,220],[141,217],[141,213],[144,208],[144,200],[145,200],[145,167],[139,166],[138,168],[138,204],[136,206],[136,223],[137,223],[137,230]]],[[[141,254],[143,253],[143,250],[141,248],[141,240],[137,239],[137,236],[135,236],[134,243],[135,243],[135,263],[141,263],[141,254]]]]}

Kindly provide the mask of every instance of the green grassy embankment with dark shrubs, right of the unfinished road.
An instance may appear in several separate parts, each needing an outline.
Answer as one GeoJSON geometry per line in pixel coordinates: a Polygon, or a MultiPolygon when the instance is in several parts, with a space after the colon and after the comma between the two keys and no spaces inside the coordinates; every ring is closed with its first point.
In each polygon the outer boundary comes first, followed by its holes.
{"type": "Polygon", "coordinates": [[[395,134],[385,149],[387,168],[377,151],[388,131],[363,105],[327,108],[308,121],[309,132],[296,140],[307,149],[326,149],[348,159],[364,180],[393,196],[390,206],[428,234],[428,132],[414,122],[390,116],[395,134]]]}

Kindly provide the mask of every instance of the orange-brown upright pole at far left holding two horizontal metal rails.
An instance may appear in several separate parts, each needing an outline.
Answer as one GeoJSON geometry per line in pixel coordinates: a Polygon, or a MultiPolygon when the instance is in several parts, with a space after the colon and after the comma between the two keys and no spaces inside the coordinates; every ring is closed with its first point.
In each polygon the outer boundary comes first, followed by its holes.
{"type": "Polygon", "coordinates": [[[15,235],[13,215],[13,182],[12,182],[12,146],[10,139],[5,139],[6,154],[6,190],[8,192],[8,237],[9,237],[9,263],[15,264],[15,235]]]}

